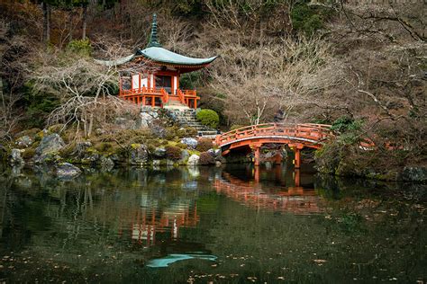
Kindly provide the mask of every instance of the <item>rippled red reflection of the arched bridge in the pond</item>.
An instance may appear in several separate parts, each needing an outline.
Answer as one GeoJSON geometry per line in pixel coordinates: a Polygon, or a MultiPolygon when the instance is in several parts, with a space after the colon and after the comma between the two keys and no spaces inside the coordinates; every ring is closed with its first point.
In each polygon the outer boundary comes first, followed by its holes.
{"type": "MultiPolygon", "coordinates": [[[[295,186],[271,191],[262,188],[257,175],[255,182],[243,182],[228,173],[223,173],[223,176],[225,179],[217,179],[214,182],[216,191],[252,208],[291,212],[298,215],[323,212],[319,206],[322,199],[313,189],[295,186]]],[[[295,180],[299,180],[299,177],[295,176],[295,180]]]]}

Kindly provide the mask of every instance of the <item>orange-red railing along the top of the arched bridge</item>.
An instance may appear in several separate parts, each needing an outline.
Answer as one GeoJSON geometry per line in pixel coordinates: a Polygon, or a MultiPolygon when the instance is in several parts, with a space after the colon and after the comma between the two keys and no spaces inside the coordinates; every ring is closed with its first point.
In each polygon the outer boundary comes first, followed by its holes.
{"type": "Polygon", "coordinates": [[[241,129],[223,133],[216,137],[215,142],[218,146],[232,143],[233,141],[256,138],[256,137],[277,137],[286,136],[293,138],[305,138],[322,142],[333,137],[331,125],[327,124],[283,124],[283,123],[265,123],[251,125],[241,129]]]}

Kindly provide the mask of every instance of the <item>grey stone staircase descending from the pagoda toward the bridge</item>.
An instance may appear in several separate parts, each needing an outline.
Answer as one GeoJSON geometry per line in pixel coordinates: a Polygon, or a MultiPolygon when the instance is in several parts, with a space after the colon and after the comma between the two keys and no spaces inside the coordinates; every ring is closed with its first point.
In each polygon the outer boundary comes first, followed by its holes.
{"type": "Polygon", "coordinates": [[[217,131],[204,126],[195,118],[195,110],[190,108],[168,109],[170,116],[182,127],[192,127],[197,129],[197,136],[204,138],[215,138],[217,131]]]}

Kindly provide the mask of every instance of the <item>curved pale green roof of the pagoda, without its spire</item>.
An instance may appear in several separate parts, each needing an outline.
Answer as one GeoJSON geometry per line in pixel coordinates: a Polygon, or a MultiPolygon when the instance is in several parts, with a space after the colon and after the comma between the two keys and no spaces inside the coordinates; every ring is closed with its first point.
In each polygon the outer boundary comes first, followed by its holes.
{"type": "Polygon", "coordinates": [[[172,66],[204,66],[211,63],[217,57],[212,58],[189,58],[168,49],[161,47],[150,47],[147,49],[138,49],[135,54],[136,57],[144,57],[158,64],[166,64],[172,66]]]}

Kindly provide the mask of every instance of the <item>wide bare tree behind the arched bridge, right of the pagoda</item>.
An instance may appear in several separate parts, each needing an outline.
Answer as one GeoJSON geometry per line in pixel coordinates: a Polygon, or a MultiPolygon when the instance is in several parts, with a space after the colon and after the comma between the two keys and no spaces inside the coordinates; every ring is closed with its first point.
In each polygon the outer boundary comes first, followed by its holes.
{"type": "Polygon", "coordinates": [[[237,123],[268,121],[279,109],[286,119],[292,113],[293,120],[303,120],[307,112],[313,118],[314,110],[339,104],[321,98],[343,77],[329,49],[323,40],[305,38],[266,42],[259,49],[227,43],[223,61],[211,72],[212,87],[226,95],[225,112],[237,123]]]}

